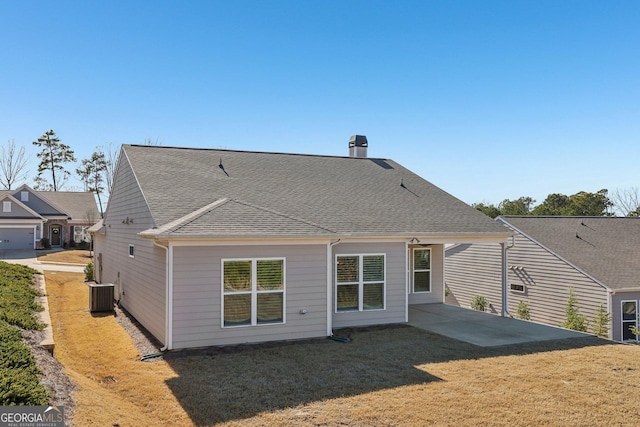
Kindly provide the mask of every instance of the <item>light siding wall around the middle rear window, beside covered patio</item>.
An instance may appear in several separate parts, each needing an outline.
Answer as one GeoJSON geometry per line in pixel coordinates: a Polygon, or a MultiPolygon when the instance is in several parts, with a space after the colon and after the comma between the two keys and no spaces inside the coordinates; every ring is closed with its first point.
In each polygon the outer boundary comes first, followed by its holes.
{"type": "MultiPolygon", "coordinates": [[[[358,312],[338,312],[335,310],[335,273],[333,283],[332,307],[333,327],[382,325],[405,321],[406,311],[406,259],[404,243],[339,243],[333,247],[332,265],[335,268],[336,255],[385,254],[386,294],[384,310],[358,312]]],[[[333,270],[333,269],[332,269],[333,270]]]]}

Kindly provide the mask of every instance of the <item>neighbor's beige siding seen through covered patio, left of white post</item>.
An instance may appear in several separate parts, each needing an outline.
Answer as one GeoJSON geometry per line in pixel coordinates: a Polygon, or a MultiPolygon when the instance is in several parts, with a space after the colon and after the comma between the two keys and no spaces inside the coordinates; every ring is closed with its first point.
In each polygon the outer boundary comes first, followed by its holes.
{"type": "Polygon", "coordinates": [[[502,249],[499,244],[461,244],[446,251],[445,283],[447,301],[469,308],[476,295],[484,296],[487,311],[502,311],[502,249]]]}

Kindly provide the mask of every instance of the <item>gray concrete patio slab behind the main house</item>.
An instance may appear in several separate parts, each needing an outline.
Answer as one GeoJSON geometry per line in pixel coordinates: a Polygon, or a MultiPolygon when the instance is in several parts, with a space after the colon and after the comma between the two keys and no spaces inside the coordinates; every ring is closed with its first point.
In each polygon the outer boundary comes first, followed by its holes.
{"type": "Polygon", "coordinates": [[[480,347],[590,336],[446,304],[410,305],[409,324],[480,347]]]}

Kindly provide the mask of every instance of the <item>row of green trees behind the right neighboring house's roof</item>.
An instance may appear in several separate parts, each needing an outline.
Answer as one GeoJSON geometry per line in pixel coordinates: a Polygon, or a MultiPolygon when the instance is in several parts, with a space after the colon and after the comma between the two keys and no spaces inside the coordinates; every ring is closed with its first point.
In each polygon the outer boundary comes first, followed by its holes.
{"type": "Polygon", "coordinates": [[[567,196],[549,194],[542,203],[536,205],[531,197],[516,200],[504,199],[494,204],[474,203],[471,206],[496,218],[500,215],[546,215],[546,216],[640,216],[640,192],[637,188],[609,191],[602,189],[595,193],[580,191],[567,196]]]}

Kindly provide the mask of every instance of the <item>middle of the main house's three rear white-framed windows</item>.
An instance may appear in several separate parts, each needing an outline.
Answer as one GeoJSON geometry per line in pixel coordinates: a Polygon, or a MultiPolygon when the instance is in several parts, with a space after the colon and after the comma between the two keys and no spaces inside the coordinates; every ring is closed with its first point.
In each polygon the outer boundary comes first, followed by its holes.
{"type": "Polygon", "coordinates": [[[385,256],[336,257],[336,311],[384,310],[385,256]]]}

